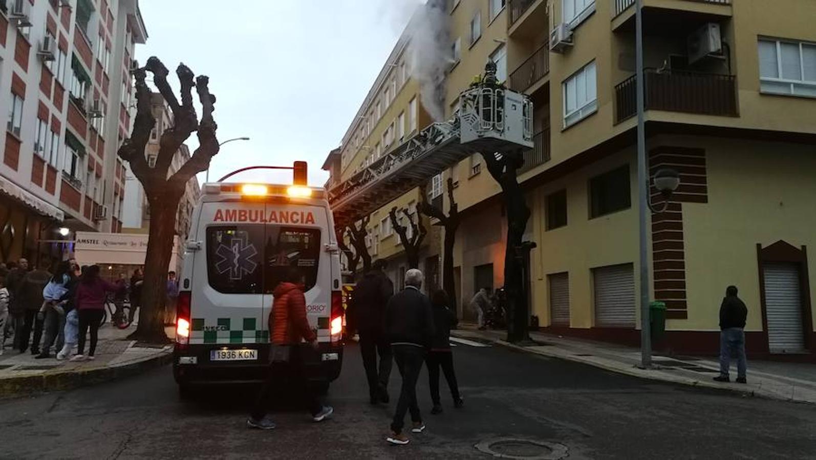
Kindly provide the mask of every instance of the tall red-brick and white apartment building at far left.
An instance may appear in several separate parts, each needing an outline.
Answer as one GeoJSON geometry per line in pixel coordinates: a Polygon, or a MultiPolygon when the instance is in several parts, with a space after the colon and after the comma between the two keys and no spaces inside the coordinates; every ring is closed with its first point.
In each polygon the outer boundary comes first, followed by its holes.
{"type": "Polygon", "coordinates": [[[0,0],[0,261],[122,229],[137,0],[0,0]],[[68,229],[61,233],[59,229],[68,229]]]}

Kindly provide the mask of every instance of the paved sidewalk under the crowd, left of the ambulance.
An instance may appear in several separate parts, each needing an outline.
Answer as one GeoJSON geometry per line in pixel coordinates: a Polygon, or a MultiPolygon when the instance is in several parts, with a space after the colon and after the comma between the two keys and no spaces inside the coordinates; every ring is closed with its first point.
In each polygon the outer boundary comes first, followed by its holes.
{"type": "MultiPolygon", "coordinates": [[[[173,328],[166,328],[173,337],[173,328]]],[[[57,361],[55,357],[34,359],[26,351],[11,349],[11,339],[0,356],[0,398],[75,388],[105,380],[134,375],[172,360],[172,345],[150,346],[127,340],[135,331],[135,323],[125,330],[104,324],[100,327],[99,343],[94,361],[57,361]]],[[[87,345],[86,345],[87,346],[87,345]]],[[[52,354],[53,356],[53,354],[52,354]]]]}

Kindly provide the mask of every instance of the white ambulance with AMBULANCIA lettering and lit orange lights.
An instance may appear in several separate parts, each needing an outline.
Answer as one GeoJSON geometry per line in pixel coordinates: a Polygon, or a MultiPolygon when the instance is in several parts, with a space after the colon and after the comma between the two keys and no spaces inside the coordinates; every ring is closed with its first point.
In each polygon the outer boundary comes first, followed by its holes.
{"type": "Polygon", "coordinates": [[[197,385],[266,377],[273,291],[290,267],[304,279],[308,322],[317,331],[317,350],[304,347],[306,375],[325,392],[340,373],[344,309],[326,191],[306,186],[304,162],[253,168],[293,169],[294,185],[206,183],[193,210],[173,360],[181,396],[197,385]]]}

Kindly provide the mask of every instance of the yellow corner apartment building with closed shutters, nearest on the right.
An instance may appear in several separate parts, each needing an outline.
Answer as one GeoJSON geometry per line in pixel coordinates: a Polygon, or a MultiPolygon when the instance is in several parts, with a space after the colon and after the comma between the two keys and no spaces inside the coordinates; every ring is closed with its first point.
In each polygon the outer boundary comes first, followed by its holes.
{"type": "MultiPolygon", "coordinates": [[[[655,208],[665,206],[648,216],[649,289],[668,318],[657,346],[715,353],[719,305],[733,284],[749,309],[749,353],[810,353],[816,3],[643,4],[648,169],[681,177],[668,204],[650,188],[655,208]]],[[[547,331],[637,344],[633,6],[450,0],[446,104],[455,110],[488,58],[512,90],[530,95],[535,147],[519,177],[532,211],[526,239],[537,244],[530,315],[547,331]]],[[[480,156],[445,177],[459,184],[455,282],[466,301],[478,287],[503,285],[506,224],[480,156]]]]}

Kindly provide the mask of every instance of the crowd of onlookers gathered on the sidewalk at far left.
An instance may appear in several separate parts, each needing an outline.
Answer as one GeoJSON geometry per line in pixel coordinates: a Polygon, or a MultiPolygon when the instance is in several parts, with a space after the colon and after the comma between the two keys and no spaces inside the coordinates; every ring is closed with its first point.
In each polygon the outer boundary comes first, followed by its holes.
{"type": "Polygon", "coordinates": [[[99,265],[80,267],[73,259],[37,267],[26,259],[0,263],[0,354],[11,341],[12,349],[30,349],[38,359],[93,360],[106,302],[113,300],[119,312],[129,299],[132,322],[143,283],[140,269],[130,283],[124,275],[111,283],[100,271],[99,265]]]}

